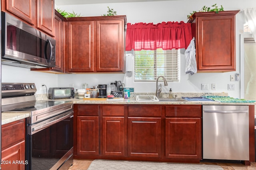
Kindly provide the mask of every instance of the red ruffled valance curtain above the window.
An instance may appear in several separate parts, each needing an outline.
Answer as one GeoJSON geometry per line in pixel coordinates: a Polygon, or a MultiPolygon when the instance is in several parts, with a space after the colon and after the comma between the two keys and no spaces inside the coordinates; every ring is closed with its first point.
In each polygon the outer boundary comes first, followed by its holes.
{"type": "Polygon", "coordinates": [[[126,51],[187,48],[192,39],[191,23],[127,23],[126,51]]]}

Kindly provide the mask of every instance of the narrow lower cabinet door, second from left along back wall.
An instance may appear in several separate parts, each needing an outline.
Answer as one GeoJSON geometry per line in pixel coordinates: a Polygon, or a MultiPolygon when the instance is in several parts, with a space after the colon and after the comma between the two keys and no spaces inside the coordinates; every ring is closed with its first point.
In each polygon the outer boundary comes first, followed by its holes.
{"type": "Polygon", "coordinates": [[[102,155],[124,156],[124,117],[102,117],[102,155]]]}

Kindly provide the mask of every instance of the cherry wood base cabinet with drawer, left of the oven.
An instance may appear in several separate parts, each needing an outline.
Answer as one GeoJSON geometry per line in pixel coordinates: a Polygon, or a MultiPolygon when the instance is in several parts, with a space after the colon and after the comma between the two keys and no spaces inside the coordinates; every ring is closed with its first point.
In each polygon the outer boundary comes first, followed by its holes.
{"type": "Polygon", "coordinates": [[[24,170],[25,163],[25,119],[2,125],[1,168],[24,170]],[[20,163],[15,164],[13,161],[20,163]]]}

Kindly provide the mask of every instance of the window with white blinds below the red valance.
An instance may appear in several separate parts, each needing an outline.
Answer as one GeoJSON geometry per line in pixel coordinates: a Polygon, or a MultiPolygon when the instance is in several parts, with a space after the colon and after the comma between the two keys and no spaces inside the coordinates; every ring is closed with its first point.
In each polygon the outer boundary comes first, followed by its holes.
{"type": "Polygon", "coordinates": [[[134,80],[154,82],[158,76],[168,82],[180,80],[180,50],[134,51],[134,80]]]}

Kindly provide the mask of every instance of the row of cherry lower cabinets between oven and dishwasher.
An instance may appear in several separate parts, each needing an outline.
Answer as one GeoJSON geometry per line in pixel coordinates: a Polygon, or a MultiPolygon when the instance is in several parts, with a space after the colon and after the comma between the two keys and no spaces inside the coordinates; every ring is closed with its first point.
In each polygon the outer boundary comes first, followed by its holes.
{"type": "Polygon", "coordinates": [[[74,104],[74,112],[75,158],[202,159],[200,105],[74,104]]]}

